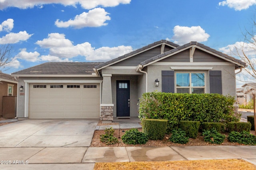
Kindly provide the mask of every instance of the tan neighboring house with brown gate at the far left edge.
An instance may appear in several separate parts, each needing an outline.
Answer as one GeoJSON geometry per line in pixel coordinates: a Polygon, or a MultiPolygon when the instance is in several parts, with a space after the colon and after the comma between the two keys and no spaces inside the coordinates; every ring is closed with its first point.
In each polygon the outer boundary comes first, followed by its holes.
{"type": "Polygon", "coordinates": [[[6,96],[17,96],[17,84],[18,81],[14,77],[0,71],[0,117],[3,117],[3,111],[5,110],[8,112],[14,111],[16,114],[16,106],[10,104],[10,102],[15,102],[13,101],[15,98],[8,100],[6,96]]]}

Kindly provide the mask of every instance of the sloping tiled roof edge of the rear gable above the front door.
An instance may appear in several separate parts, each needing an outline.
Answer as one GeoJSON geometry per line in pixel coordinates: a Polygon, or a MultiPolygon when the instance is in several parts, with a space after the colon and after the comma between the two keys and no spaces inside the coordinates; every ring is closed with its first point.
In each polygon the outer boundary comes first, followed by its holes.
{"type": "Polygon", "coordinates": [[[107,65],[110,65],[110,64],[114,64],[114,63],[116,63],[116,62],[118,62],[118,61],[122,61],[122,59],[125,59],[125,58],[127,58],[127,57],[130,57],[130,56],[132,56],[132,55],[135,55],[135,54],[140,53],[140,52],[142,52],[142,51],[144,51],[144,50],[150,49],[151,47],[154,47],[155,45],[160,45],[160,44],[162,44],[162,43],[166,43],[167,45],[170,45],[170,46],[172,46],[172,47],[174,47],[174,48],[179,47],[178,44],[174,44],[174,43],[172,43],[172,42],[170,42],[170,41],[167,41],[167,40],[156,41],[156,42],[154,42],[154,43],[152,43],[152,44],[150,44],[150,45],[147,45],[147,46],[145,46],[145,47],[142,47],[142,48],[140,48],[140,49],[137,49],[137,50],[135,50],[135,51],[132,51],[132,52],[130,52],[130,53],[128,53],[128,54],[122,55],[122,56],[120,56],[120,57],[118,57],[118,58],[116,58],[116,59],[107,61],[107,62],[105,62],[105,63],[102,63],[102,64],[98,65],[98,66],[95,66],[95,69],[98,70],[98,69],[100,69],[100,68],[102,68],[102,67],[104,67],[104,66],[107,66],[107,65]]]}

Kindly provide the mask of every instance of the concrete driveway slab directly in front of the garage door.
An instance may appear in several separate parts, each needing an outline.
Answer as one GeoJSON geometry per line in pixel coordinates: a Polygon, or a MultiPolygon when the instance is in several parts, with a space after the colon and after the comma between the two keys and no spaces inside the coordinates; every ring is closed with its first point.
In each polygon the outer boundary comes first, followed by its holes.
{"type": "Polygon", "coordinates": [[[0,126],[0,147],[89,147],[98,119],[28,119],[0,126]]]}

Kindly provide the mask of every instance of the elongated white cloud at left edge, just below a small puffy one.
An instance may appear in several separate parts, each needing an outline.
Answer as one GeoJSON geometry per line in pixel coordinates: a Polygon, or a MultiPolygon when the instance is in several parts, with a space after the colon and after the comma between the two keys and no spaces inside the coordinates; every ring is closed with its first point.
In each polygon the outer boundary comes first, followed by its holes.
{"type": "Polygon", "coordinates": [[[19,41],[26,41],[33,34],[28,34],[26,31],[20,31],[19,33],[8,33],[0,38],[0,44],[15,44],[19,41]]]}

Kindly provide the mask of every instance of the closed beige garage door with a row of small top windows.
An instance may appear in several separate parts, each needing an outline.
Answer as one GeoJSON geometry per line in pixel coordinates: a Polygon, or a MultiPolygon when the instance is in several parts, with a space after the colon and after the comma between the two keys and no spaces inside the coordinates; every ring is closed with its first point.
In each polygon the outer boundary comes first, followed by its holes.
{"type": "Polygon", "coordinates": [[[100,118],[100,84],[30,84],[30,119],[100,118]]]}

